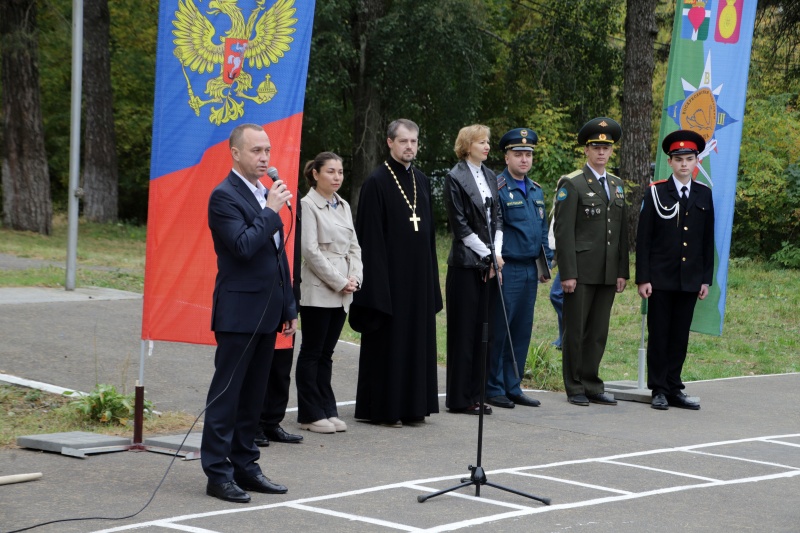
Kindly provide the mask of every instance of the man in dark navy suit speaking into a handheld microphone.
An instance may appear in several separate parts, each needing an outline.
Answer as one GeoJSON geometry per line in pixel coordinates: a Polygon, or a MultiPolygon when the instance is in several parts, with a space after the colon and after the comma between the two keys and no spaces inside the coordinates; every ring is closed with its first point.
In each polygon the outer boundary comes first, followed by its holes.
{"type": "Polygon", "coordinates": [[[265,477],[254,443],[279,330],[292,335],[297,311],[278,216],[292,197],[277,180],[267,192],[270,140],[261,126],[242,124],[230,136],[233,169],[211,193],[208,226],[217,254],[211,329],[215,372],[206,400],[200,457],[206,494],[247,503],[246,490],[283,494],[265,477]]]}

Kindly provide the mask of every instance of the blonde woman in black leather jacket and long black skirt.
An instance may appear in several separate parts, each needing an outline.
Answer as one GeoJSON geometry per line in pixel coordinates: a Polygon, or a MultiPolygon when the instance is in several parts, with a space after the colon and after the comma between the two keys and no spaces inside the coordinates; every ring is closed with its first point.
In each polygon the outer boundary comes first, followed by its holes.
{"type": "MultiPolygon", "coordinates": [[[[458,132],[460,161],[445,178],[444,199],[453,242],[447,259],[447,399],[450,412],[480,414],[482,325],[497,293],[490,242],[502,240],[497,178],[483,161],[489,155],[489,128],[480,124],[458,132]],[[491,198],[489,205],[486,199],[491,198]],[[491,228],[487,227],[488,223],[491,228]],[[490,240],[491,239],[491,240],[490,240]]],[[[498,266],[502,269],[502,259],[498,266]]],[[[483,406],[485,414],[491,407],[483,406]]]]}

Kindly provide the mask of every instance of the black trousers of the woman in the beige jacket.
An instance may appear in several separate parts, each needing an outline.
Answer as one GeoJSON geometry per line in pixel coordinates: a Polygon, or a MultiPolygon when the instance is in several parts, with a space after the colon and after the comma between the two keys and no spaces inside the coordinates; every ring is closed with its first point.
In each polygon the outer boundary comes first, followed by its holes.
{"type": "Polygon", "coordinates": [[[303,342],[297,356],[297,421],[339,416],[331,387],[333,350],[347,314],[342,307],[303,306],[303,342]]]}

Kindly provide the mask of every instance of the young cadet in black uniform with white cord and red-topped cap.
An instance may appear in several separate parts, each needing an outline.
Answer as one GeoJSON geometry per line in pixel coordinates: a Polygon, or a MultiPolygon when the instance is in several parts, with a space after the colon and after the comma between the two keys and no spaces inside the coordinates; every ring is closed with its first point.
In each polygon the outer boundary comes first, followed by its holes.
{"type": "Polygon", "coordinates": [[[672,176],[650,184],[639,215],[636,285],[648,300],[647,387],[658,410],[700,409],[682,392],[681,370],[695,304],[714,277],[714,201],[711,189],[692,179],[705,145],[689,130],[664,138],[672,176]]]}

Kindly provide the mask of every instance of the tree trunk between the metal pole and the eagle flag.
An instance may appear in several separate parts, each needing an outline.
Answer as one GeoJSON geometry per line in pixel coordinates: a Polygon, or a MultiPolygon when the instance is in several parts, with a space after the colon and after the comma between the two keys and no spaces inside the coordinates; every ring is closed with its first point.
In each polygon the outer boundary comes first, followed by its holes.
{"type": "Polygon", "coordinates": [[[117,147],[111,89],[108,0],[85,0],[83,101],[83,215],[113,222],[118,214],[117,147]]]}

